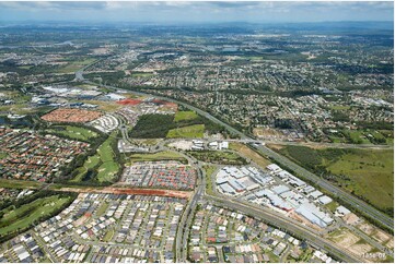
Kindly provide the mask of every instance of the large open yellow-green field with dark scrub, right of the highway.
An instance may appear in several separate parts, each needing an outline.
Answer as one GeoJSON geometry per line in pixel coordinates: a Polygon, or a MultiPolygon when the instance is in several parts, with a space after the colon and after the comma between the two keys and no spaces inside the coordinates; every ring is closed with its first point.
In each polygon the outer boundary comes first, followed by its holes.
{"type": "Polygon", "coordinates": [[[286,146],[280,153],[345,190],[388,212],[394,207],[394,152],[392,149],[313,149],[286,146]]]}

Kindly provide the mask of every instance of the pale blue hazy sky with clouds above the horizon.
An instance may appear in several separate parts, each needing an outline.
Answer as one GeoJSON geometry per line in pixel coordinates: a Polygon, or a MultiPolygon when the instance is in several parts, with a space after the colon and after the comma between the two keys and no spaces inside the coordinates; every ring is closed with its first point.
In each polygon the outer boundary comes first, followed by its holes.
{"type": "Polygon", "coordinates": [[[392,1],[89,1],[2,2],[0,21],[320,22],[393,21],[392,1]]]}

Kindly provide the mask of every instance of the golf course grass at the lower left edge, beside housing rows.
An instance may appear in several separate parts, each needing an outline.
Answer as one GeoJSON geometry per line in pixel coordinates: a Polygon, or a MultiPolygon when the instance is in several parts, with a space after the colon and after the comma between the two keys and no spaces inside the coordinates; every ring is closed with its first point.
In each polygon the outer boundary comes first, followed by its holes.
{"type": "Polygon", "coordinates": [[[59,197],[51,195],[37,199],[32,203],[24,204],[14,209],[13,205],[1,211],[3,217],[0,219],[0,237],[16,230],[25,230],[39,218],[48,216],[68,203],[71,197],[59,197]]]}

